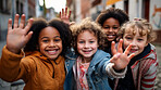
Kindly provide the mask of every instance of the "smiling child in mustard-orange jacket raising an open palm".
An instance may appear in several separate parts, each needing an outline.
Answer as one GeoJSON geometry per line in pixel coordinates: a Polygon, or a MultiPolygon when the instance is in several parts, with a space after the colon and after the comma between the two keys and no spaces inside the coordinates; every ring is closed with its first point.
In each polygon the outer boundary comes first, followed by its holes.
{"type": "Polygon", "coordinates": [[[47,23],[39,18],[33,25],[29,20],[23,28],[24,20],[23,14],[18,26],[16,14],[13,29],[12,21],[9,20],[7,46],[0,61],[0,78],[5,81],[23,79],[25,90],[63,90],[64,52],[71,46],[72,36],[69,26],[60,20],[47,23]],[[27,52],[25,57],[21,51],[23,47],[27,52]]]}

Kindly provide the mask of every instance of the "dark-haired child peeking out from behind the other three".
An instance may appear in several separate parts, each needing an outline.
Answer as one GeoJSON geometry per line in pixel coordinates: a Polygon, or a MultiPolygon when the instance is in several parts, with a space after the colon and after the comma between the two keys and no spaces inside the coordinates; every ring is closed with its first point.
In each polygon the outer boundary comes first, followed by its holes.
{"type": "Polygon", "coordinates": [[[123,10],[114,8],[102,11],[96,18],[96,22],[100,24],[107,35],[104,51],[111,55],[111,42],[116,41],[120,27],[127,21],[128,15],[123,10]]]}

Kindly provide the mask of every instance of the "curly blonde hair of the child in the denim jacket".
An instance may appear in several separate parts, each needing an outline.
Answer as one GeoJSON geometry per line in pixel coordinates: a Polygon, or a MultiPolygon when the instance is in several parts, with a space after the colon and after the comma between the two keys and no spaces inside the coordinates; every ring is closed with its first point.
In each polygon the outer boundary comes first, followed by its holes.
{"type": "Polygon", "coordinates": [[[102,28],[95,22],[91,22],[91,18],[87,17],[84,18],[79,24],[75,24],[71,26],[72,35],[73,35],[73,48],[76,51],[77,47],[77,36],[81,33],[84,33],[85,30],[88,30],[89,33],[94,33],[94,35],[98,39],[98,48],[103,49],[104,46],[104,40],[106,40],[106,35],[102,30],[102,28]]]}

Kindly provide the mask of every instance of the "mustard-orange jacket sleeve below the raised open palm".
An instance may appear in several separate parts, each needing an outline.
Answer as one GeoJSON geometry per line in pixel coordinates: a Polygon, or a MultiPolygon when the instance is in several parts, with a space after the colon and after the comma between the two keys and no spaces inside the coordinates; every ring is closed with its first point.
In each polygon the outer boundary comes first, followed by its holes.
{"type": "Polygon", "coordinates": [[[2,55],[0,60],[0,78],[5,81],[15,81],[20,79],[20,63],[24,53],[20,54],[10,52],[7,46],[2,49],[2,55]]]}

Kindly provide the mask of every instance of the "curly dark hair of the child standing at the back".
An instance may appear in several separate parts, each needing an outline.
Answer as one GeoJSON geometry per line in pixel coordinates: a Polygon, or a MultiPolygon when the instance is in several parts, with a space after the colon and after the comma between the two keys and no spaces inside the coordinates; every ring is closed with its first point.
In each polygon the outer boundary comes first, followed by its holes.
{"type": "Polygon", "coordinates": [[[102,11],[96,18],[96,22],[103,26],[104,21],[110,17],[117,20],[120,26],[122,26],[123,23],[129,21],[129,17],[126,12],[121,9],[110,8],[108,10],[102,11]]]}

